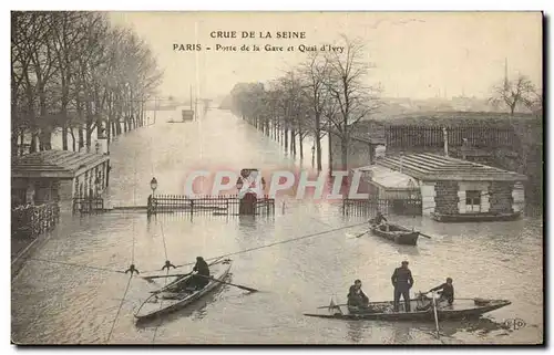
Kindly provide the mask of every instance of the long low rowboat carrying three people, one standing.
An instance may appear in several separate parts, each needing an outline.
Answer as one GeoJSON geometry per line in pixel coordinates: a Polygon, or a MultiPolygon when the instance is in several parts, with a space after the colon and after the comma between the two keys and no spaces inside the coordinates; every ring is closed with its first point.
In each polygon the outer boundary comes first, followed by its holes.
{"type": "MultiPolygon", "coordinates": [[[[347,305],[329,305],[328,307],[318,307],[320,312],[305,313],[306,316],[336,320],[368,320],[368,321],[418,321],[434,322],[433,307],[429,305],[430,301],[421,299],[410,300],[411,312],[403,311],[403,302],[400,302],[400,311],[393,311],[393,302],[370,302],[367,309],[358,310],[347,305]]],[[[437,315],[440,321],[463,320],[479,317],[484,313],[501,309],[511,304],[507,300],[484,300],[484,299],[455,299],[454,303],[448,305],[442,303],[437,306],[437,315]]]]}

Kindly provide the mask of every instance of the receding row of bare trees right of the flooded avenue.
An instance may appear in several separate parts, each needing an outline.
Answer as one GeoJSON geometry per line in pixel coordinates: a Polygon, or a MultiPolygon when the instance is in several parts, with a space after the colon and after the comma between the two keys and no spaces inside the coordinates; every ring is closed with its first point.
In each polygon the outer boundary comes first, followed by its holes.
{"type": "Polygon", "coordinates": [[[314,139],[317,168],[321,170],[321,138],[332,135],[341,145],[346,168],[348,147],[357,124],[380,106],[377,85],[363,44],[342,36],[343,52],[314,52],[281,77],[263,83],[240,83],[233,88],[233,112],[285,149],[304,158],[304,142],[314,139]],[[298,144],[298,146],[297,146],[298,144]]]}

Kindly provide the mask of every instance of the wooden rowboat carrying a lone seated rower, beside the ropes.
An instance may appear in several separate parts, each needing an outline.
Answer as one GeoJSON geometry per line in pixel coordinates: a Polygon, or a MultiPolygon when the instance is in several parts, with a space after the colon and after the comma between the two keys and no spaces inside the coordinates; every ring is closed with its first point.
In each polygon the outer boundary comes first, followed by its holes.
{"type": "MultiPolygon", "coordinates": [[[[223,260],[220,262],[213,263],[209,265],[209,273],[213,279],[223,281],[223,279],[225,279],[225,276],[229,273],[230,265],[230,260],[223,260]]],[[[192,275],[174,279],[175,280],[166,286],[154,291],[152,295],[141,304],[138,310],[135,312],[135,317],[137,320],[151,319],[156,315],[163,315],[184,309],[222,284],[220,282],[211,280],[209,283],[203,289],[194,290],[192,288],[186,288],[187,283],[192,280],[192,275]],[[185,291],[175,292],[177,286],[184,288],[185,291]]]]}

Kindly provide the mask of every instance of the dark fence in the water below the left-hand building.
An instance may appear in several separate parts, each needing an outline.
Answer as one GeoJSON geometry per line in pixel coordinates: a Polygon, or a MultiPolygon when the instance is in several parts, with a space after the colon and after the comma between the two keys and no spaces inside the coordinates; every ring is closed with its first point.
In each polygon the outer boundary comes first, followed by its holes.
{"type": "Polygon", "coordinates": [[[19,206],[11,210],[12,238],[37,238],[52,230],[60,220],[58,202],[19,206]]]}

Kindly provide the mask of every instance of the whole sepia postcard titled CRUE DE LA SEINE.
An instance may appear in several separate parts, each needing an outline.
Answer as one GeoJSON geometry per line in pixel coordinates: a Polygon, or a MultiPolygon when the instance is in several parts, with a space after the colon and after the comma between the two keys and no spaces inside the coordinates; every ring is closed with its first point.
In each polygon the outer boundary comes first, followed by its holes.
{"type": "Polygon", "coordinates": [[[12,344],[544,344],[543,23],[12,11],[12,344]]]}

